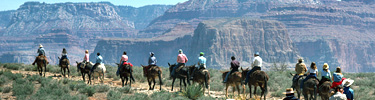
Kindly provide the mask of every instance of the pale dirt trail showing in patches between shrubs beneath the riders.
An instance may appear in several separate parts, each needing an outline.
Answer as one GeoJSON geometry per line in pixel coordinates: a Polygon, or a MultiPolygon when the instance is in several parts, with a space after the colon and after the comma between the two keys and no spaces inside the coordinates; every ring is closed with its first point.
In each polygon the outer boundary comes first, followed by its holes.
{"type": "MultiPolygon", "coordinates": [[[[1,68],[1,69],[3,69],[3,68],[1,68]]],[[[11,72],[12,73],[21,73],[23,75],[38,75],[37,71],[11,70],[11,72]]],[[[60,73],[50,73],[50,72],[46,72],[46,77],[52,77],[53,79],[56,79],[56,80],[61,80],[61,79],[65,78],[65,77],[61,77],[60,73]]],[[[68,77],[66,77],[66,78],[68,78],[68,77]]],[[[82,76],[70,76],[68,79],[80,81],[80,80],[82,80],[82,76]]],[[[87,82],[87,80],[86,80],[86,82],[87,82]]],[[[104,78],[103,83],[100,83],[98,81],[98,79],[95,79],[95,81],[93,81],[93,83],[95,85],[104,84],[104,85],[108,85],[110,87],[121,87],[121,80],[114,80],[113,78],[104,78]]],[[[148,90],[148,84],[147,83],[140,83],[140,82],[132,83],[132,89],[133,89],[134,93],[144,93],[144,94],[148,94],[148,95],[152,94],[153,92],[160,91],[159,90],[160,87],[159,87],[158,84],[155,85],[155,90],[148,90]]],[[[171,91],[171,87],[162,86],[162,90],[169,91],[169,92],[179,91],[180,88],[175,86],[175,89],[176,90],[171,91]]],[[[232,92],[231,92],[231,90],[229,90],[229,91],[230,92],[228,93],[228,95],[231,95],[232,92]]],[[[237,92],[235,92],[235,94],[237,95],[237,92]]],[[[270,94],[271,93],[268,93],[267,100],[279,100],[279,99],[281,99],[281,98],[270,97],[270,94]]],[[[205,95],[206,96],[208,95],[207,91],[205,91],[205,95]]],[[[248,93],[246,93],[246,95],[248,95],[248,93]]],[[[210,96],[212,96],[214,98],[223,98],[223,97],[225,97],[225,92],[224,91],[210,91],[210,96]]],[[[106,99],[106,95],[100,94],[100,93],[94,94],[93,97],[94,98],[91,98],[91,99],[106,99]]],[[[239,98],[239,97],[237,97],[237,98],[239,98]]],[[[247,96],[247,98],[249,98],[249,96],[247,96]]],[[[250,100],[253,100],[253,99],[250,99],[250,100]]],[[[255,99],[255,100],[257,100],[257,99],[255,99]]]]}

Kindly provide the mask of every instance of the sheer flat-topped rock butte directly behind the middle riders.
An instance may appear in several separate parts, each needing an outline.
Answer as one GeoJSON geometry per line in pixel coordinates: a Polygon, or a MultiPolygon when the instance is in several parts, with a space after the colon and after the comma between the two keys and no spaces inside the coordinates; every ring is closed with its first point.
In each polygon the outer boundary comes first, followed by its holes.
{"type": "Polygon", "coordinates": [[[148,52],[152,51],[158,58],[158,65],[167,66],[167,62],[176,62],[180,48],[190,59],[188,64],[195,64],[199,52],[205,52],[209,68],[227,68],[231,56],[246,62],[242,66],[248,67],[256,51],[266,63],[292,62],[298,56],[282,23],[246,18],[203,21],[192,37],[187,34],[173,40],[163,36],[157,39],[105,39],[99,41],[94,52],[101,52],[105,61],[113,64],[119,61],[123,51],[127,51],[129,61],[139,65],[147,64],[148,52]]]}

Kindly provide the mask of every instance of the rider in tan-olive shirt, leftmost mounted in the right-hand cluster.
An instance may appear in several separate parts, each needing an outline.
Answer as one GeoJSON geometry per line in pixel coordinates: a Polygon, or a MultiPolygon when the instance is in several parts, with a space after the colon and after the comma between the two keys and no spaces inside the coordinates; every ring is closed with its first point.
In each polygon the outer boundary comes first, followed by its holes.
{"type": "Polygon", "coordinates": [[[296,74],[293,76],[293,87],[298,82],[298,79],[301,78],[307,71],[306,64],[303,63],[303,58],[298,59],[298,63],[296,64],[296,68],[294,70],[296,71],[296,74]]]}

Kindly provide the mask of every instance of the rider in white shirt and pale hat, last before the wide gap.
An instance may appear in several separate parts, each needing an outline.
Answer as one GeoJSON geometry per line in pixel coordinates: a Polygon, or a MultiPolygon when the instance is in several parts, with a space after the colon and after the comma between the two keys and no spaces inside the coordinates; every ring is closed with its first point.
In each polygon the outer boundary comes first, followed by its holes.
{"type": "Polygon", "coordinates": [[[249,79],[250,79],[250,75],[257,71],[257,70],[261,70],[261,67],[262,67],[262,58],[259,57],[259,52],[256,52],[254,54],[254,59],[253,59],[253,63],[251,64],[251,66],[253,67],[249,72],[246,73],[246,80],[245,80],[245,84],[247,84],[247,82],[249,82],[249,79]]]}

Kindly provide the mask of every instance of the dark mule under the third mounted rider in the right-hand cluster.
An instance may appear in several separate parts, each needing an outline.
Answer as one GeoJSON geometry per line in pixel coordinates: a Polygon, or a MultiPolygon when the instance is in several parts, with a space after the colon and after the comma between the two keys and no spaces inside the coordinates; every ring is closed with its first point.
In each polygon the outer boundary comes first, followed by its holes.
{"type": "Polygon", "coordinates": [[[319,95],[322,100],[328,100],[331,96],[332,83],[330,81],[325,81],[319,85],[319,95]]]}

